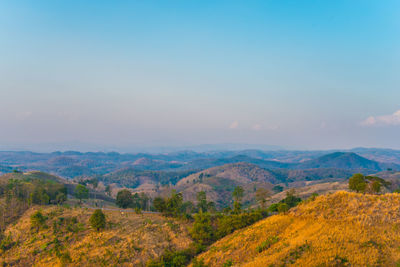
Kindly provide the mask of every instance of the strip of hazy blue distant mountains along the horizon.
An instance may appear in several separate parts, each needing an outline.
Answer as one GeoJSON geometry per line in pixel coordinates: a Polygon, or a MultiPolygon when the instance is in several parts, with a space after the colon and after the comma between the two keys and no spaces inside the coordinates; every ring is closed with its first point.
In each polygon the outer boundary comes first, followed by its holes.
{"type": "Polygon", "coordinates": [[[0,172],[12,169],[40,170],[65,178],[104,175],[119,169],[151,171],[203,170],[230,163],[246,162],[265,169],[338,168],[376,172],[400,169],[400,151],[354,149],[324,151],[180,151],[165,154],[120,154],[116,152],[0,152],[0,172]]]}

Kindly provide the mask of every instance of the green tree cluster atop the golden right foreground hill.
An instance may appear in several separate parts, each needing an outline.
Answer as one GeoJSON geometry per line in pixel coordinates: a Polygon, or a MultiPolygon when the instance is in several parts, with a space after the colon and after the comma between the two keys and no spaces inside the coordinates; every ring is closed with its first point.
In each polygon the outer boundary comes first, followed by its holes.
{"type": "Polygon", "coordinates": [[[376,176],[364,176],[356,173],[349,179],[349,188],[357,193],[378,194],[382,188],[388,188],[390,182],[376,176]]]}

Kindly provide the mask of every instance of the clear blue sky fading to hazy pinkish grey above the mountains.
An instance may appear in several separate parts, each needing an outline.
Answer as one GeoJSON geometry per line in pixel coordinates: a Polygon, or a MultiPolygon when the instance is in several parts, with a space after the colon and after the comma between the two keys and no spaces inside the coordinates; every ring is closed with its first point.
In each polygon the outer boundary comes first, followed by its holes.
{"type": "Polygon", "coordinates": [[[0,150],[400,149],[400,2],[0,1],[0,150]]]}

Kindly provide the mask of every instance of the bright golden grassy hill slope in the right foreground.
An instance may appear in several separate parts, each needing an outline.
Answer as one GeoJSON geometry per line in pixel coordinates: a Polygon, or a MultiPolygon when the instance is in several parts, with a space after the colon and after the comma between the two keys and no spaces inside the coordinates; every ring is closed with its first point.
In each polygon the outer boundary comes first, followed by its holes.
{"type": "Polygon", "coordinates": [[[400,194],[320,196],[226,236],[198,259],[210,266],[398,266],[399,210],[400,194]]]}

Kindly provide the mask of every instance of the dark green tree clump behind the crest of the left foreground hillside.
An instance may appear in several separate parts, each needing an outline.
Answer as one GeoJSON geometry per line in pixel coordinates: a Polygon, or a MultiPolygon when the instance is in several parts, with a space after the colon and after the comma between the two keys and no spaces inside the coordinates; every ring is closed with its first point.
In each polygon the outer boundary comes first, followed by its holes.
{"type": "Polygon", "coordinates": [[[145,193],[132,194],[131,191],[123,189],[117,194],[116,204],[118,207],[123,209],[133,208],[139,210],[149,210],[150,198],[145,193]]]}

